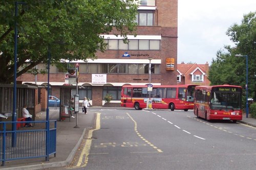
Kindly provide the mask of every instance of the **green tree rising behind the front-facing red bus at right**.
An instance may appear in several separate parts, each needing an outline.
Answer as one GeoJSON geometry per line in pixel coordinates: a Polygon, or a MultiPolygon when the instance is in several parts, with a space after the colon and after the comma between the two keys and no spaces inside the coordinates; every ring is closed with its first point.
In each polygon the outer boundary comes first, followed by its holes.
{"type": "Polygon", "coordinates": [[[256,12],[244,15],[241,25],[234,23],[226,34],[236,47],[225,46],[217,58],[212,59],[208,79],[212,85],[231,84],[245,88],[246,57],[234,57],[236,54],[248,56],[249,97],[256,99],[256,12]]]}

